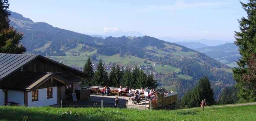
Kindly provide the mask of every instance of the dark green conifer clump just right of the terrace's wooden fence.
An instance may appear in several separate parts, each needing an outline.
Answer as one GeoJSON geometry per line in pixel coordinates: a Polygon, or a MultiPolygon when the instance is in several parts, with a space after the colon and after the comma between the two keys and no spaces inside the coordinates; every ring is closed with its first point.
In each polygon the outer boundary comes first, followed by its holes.
{"type": "Polygon", "coordinates": [[[215,104],[213,89],[207,77],[200,79],[198,85],[183,96],[180,105],[181,108],[197,107],[203,99],[206,99],[207,105],[215,104]]]}

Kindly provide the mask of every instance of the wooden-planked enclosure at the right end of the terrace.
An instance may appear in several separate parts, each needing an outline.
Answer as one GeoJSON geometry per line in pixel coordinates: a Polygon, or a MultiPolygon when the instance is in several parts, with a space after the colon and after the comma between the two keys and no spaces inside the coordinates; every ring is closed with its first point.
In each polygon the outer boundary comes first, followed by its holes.
{"type": "Polygon", "coordinates": [[[158,89],[152,94],[156,94],[155,100],[149,101],[150,109],[176,109],[176,105],[178,102],[178,93],[177,92],[169,92],[166,89],[158,89]]]}

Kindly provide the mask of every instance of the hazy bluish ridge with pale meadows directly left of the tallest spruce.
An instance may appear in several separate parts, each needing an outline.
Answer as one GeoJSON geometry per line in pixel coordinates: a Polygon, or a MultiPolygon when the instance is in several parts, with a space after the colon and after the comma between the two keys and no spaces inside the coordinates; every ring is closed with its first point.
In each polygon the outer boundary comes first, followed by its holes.
{"type": "Polygon", "coordinates": [[[212,47],[202,47],[195,49],[199,52],[206,54],[221,63],[227,64],[230,67],[236,67],[235,61],[241,57],[239,54],[238,46],[234,43],[225,43],[212,47]]]}

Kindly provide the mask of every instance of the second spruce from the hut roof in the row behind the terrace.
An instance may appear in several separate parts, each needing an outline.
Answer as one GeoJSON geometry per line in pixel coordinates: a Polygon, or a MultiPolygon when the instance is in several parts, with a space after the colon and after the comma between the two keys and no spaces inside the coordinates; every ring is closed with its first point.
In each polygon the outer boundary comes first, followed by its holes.
{"type": "Polygon", "coordinates": [[[99,60],[97,70],[94,72],[93,84],[95,86],[105,86],[108,82],[108,72],[104,69],[102,61],[99,60]]]}

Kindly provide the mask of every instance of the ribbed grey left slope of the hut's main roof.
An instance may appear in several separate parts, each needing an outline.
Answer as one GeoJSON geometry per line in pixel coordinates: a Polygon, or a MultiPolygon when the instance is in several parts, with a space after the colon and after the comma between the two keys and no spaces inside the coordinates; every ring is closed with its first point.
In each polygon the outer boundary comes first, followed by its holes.
{"type": "Polygon", "coordinates": [[[8,76],[23,65],[34,60],[38,55],[30,54],[2,54],[0,53],[0,80],[8,76]]]}

